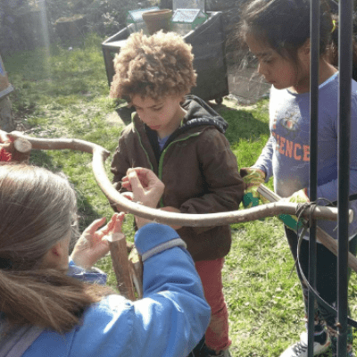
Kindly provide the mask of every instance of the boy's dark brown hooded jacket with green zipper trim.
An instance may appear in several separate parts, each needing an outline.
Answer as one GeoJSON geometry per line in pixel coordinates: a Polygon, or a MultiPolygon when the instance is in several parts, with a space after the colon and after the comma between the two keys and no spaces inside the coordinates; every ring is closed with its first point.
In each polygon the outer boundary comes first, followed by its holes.
{"type": "MultiPolygon", "coordinates": [[[[120,190],[120,180],[129,168],[145,167],[165,184],[162,207],[173,206],[182,213],[236,211],[244,185],[236,156],[223,135],[227,122],[195,95],[187,95],[182,106],[187,110],[183,125],[170,136],[162,153],[156,132],[133,114],[112,159],[114,187],[120,190]]],[[[218,259],[229,252],[228,225],[183,227],[178,233],[195,262],[218,259]]]]}

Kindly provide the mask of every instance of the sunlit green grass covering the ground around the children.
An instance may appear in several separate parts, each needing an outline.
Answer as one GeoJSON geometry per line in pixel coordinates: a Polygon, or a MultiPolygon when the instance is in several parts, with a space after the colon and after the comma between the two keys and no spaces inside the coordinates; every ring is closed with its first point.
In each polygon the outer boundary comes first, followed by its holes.
{"type": "MultiPolygon", "coordinates": [[[[3,58],[15,87],[15,118],[35,137],[75,137],[113,153],[123,124],[115,119],[117,103],[108,98],[101,39],[87,38],[83,48],[14,54],[3,58]],[[114,118],[114,120],[113,120],[114,118]]],[[[268,101],[237,107],[225,99],[214,107],[229,123],[228,141],[239,167],[252,165],[269,137],[268,101]]],[[[91,170],[91,155],[71,151],[33,152],[31,162],[62,171],[78,193],[80,227],[112,215],[91,170]]],[[[109,172],[111,158],[107,160],[109,172]]],[[[110,175],[109,175],[110,176],[110,175]]],[[[271,187],[271,182],[269,184],[271,187]]],[[[231,353],[234,357],[277,357],[303,331],[303,301],[282,224],[275,218],[234,224],[233,245],[223,271],[228,303],[231,353]]],[[[132,239],[132,217],[125,232],[132,239]]],[[[114,284],[111,261],[98,263],[114,284]]],[[[356,278],[350,285],[356,293],[356,278]]],[[[353,313],[357,309],[351,298],[353,313]]],[[[356,338],[357,340],[357,338],[356,338]]],[[[357,342],[356,342],[357,345],[357,342]]]]}

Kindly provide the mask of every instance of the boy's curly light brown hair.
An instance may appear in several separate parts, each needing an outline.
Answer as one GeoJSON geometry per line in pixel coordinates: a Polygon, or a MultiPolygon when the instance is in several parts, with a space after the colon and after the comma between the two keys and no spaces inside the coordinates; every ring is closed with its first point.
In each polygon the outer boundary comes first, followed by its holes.
{"type": "Polygon", "coordinates": [[[154,100],[167,95],[187,95],[197,77],[191,49],[174,32],[159,31],[150,37],[143,32],[130,35],[115,56],[110,95],[128,102],[133,95],[154,100]]]}

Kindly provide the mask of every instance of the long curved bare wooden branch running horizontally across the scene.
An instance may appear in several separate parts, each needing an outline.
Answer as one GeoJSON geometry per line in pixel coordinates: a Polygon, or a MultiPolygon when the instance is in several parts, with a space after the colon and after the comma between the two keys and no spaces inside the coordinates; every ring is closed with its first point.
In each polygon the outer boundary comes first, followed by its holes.
{"type": "MultiPolygon", "coordinates": [[[[33,149],[71,149],[79,150],[88,154],[93,154],[92,166],[95,175],[95,180],[98,186],[104,192],[104,195],[106,195],[106,197],[110,201],[117,203],[118,207],[121,210],[125,212],[130,212],[132,214],[149,220],[154,220],[158,223],[188,227],[213,227],[230,223],[241,223],[251,220],[259,220],[264,217],[277,216],[278,214],[282,213],[294,215],[296,212],[296,203],[281,202],[263,204],[261,206],[246,209],[244,211],[241,210],[209,214],[184,214],[156,210],[128,200],[123,195],[120,195],[114,187],[112,187],[112,183],[108,179],[104,170],[104,162],[110,155],[110,153],[105,150],[104,147],[78,139],[44,139],[28,137],[18,131],[12,131],[10,135],[15,138],[23,138],[29,140],[29,143],[32,145],[33,149]]],[[[350,212],[351,214],[353,214],[352,210],[350,212]]],[[[309,213],[306,212],[304,217],[309,218],[309,213]]],[[[314,210],[312,217],[314,219],[336,220],[337,209],[335,207],[318,206],[314,210]]]]}

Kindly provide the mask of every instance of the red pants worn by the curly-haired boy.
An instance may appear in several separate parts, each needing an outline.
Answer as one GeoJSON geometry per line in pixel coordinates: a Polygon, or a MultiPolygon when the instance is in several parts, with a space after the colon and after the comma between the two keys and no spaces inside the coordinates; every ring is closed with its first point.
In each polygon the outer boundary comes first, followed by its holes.
{"type": "Polygon", "coordinates": [[[226,350],[232,343],[228,337],[228,311],[223,295],[223,264],[224,258],[195,262],[195,269],[202,280],[204,297],[212,310],[210,326],[205,335],[206,345],[215,351],[226,350]]]}

